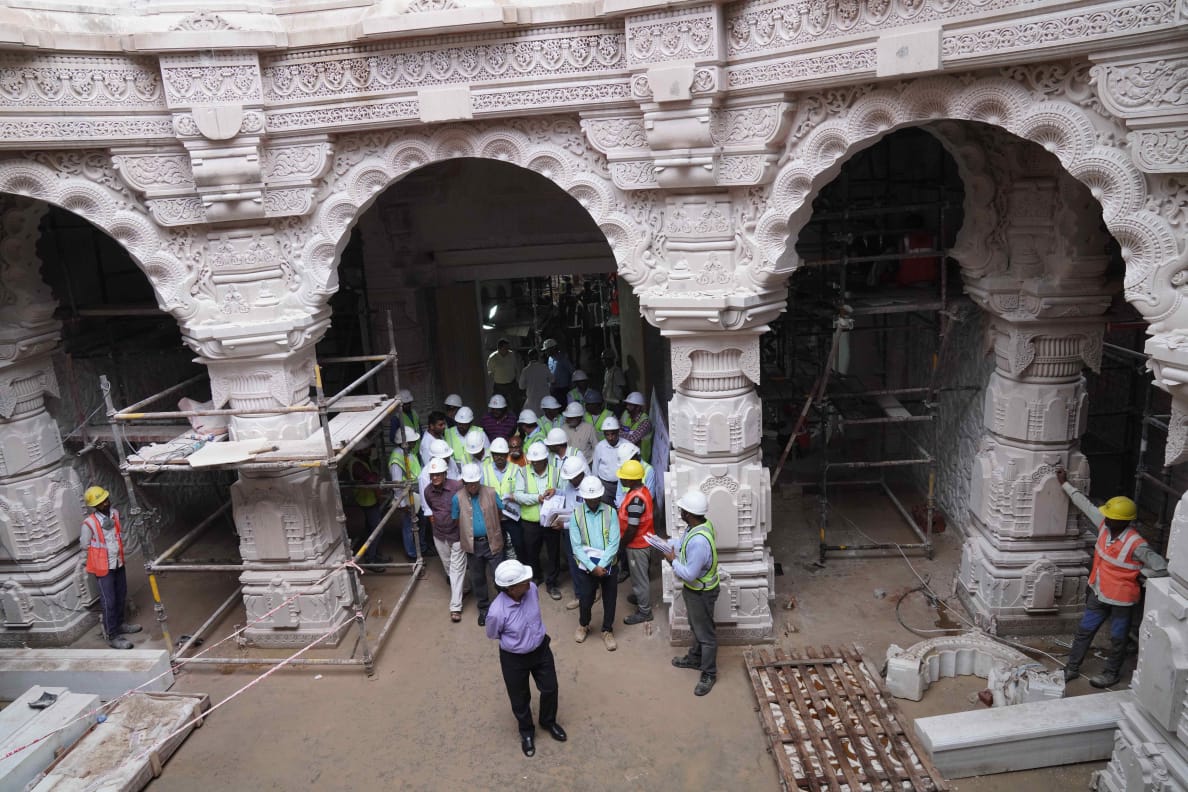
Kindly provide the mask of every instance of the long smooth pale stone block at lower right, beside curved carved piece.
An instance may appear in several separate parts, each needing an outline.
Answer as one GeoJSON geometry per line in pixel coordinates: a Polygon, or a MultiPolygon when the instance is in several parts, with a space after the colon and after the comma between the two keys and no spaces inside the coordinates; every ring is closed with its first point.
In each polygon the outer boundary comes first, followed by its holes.
{"type": "Polygon", "coordinates": [[[922,717],[916,734],[946,778],[1108,759],[1130,690],[922,717]]]}

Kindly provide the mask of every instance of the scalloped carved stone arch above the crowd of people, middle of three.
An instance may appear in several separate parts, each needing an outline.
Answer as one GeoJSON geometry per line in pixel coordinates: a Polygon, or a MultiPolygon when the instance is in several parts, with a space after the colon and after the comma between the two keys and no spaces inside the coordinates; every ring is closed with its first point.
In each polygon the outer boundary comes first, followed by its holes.
{"type": "Polygon", "coordinates": [[[297,242],[293,247],[302,258],[302,302],[320,309],[335,291],[349,229],[380,192],[419,167],[462,157],[504,161],[544,176],[589,213],[627,283],[642,290],[662,278],[650,249],[662,202],[650,192],[617,188],[606,159],[586,142],[576,119],[505,120],[339,138],[312,215],[282,232],[297,242]]]}

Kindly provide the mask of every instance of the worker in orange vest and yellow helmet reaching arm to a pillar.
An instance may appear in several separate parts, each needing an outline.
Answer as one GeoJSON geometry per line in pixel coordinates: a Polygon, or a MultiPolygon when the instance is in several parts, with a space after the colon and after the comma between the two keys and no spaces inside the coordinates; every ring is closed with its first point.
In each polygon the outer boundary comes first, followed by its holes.
{"type": "Polygon", "coordinates": [[[1081,676],[1081,661],[1093,644],[1098,628],[1110,619],[1110,655],[1101,673],[1089,677],[1094,688],[1112,688],[1121,678],[1126,641],[1135,604],[1140,594],[1139,576],[1165,577],[1168,562],[1146,544],[1131,521],[1138,507],[1129,498],[1111,498],[1099,509],[1076,487],[1068,474],[1056,470],[1056,481],[1076,508],[1098,528],[1098,543],[1089,569],[1089,590],[1085,593],[1085,615],[1076,628],[1073,648],[1064,665],[1064,682],[1081,676]]]}

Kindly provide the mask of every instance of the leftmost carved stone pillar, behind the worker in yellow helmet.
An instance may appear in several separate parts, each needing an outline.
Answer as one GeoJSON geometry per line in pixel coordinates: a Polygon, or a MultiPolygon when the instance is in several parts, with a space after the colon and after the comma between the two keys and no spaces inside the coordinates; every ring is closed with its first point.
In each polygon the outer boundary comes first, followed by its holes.
{"type": "Polygon", "coordinates": [[[62,325],[42,281],[45,204],[0,199],[0,646],[64,646],[95,623],[78,552],[82,486],[45,397],[62,325]]]}

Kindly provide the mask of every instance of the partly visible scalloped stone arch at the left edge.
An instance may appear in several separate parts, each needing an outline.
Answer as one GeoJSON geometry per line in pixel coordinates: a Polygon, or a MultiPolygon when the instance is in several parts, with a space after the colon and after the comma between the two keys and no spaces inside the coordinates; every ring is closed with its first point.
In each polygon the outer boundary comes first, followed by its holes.
{"type": "Polygon", "coordinates": [[[192,317],[198,302],[189,287],[195,249],[188,232],[162,229],[128,191],[106,152],[21,153],[0,158],[0,192],[61,207],[91,223],[128,252],[148,278],[157,304],[178,322],[192,317]]]}

